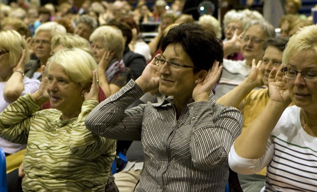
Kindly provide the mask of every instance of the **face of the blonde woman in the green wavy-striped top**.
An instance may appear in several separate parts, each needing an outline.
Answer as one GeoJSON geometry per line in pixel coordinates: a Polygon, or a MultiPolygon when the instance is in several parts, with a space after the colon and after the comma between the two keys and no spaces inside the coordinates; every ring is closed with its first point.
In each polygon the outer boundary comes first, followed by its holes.
{"type": "Polygon", "coordinates": [[[52,108],[58,109],[63,115],[80,112],[84,101],[81,96],[83,87],[79,87],[78,83],[71,81],[65,70],[54,63],[51,65],[47,78],[47,92],[52,108]]]}

